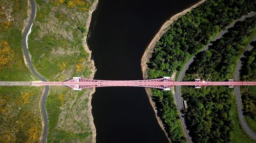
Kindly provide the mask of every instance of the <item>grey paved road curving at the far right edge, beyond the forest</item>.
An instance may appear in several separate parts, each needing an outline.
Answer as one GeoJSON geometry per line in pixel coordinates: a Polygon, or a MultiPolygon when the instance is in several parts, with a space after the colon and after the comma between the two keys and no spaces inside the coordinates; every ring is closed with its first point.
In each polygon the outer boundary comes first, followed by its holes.
{"type": "MultiPolygon", "coordinates": [[[[252,39],[252,41],[256,40],[256,36],[254,36],[254,38],[252,39]]],[[[245,51],[250,51],[251,50],[251,45],[249,44],[245,51]]],[[[244,55],[241,56],[241,58],[243,58],[244,55]]],[[[241,69],[241,58],[240,61],[236,67],[236,73],[234,74],[234,80],[239,81],[239,71],[241,69]]],[[[244,128],[244,130],[247,132],[247,134],[250,135],[251,138],[253,138],[254,140],[256,140],[256,134],[249,128],[244,116],[243,116],[243,106],[242,106],[242,100],[241,100],[241,95],[240,95],[240,87],[234,87],[234,95],[237,98],[237,103],[238,103],[238,112],[239,112],[239,118],[240,118],[240,122],[244,128]]]]}

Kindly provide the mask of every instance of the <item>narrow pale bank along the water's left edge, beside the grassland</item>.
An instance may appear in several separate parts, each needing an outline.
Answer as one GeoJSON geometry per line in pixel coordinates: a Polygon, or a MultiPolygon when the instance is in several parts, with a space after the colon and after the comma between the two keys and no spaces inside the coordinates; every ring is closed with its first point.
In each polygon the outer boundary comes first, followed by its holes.
{"type": "MultiPolygon", "coordinates": [[[[87,31],[89,31],[89,27],[90,27],[91,20],[92,20],[92,13],[96,9],[97,4],[98,4],[98,0],[95,0],[95,2],[93,3],[93,5],[91,6],[91,9],[89,11],[89,16],[88,16],[88,19],[86,21],[86,30],[87,31]]],[[[86,34],[86,36],[84,36],[83,46],[84,46],[84,49],[86,50],[86,52],[89,53],[89,58],[88,59],[90,59],[91,65],[93,66],[93,67],[91,67],[92,74],[90,75],[90,79],[93,79],[94,74],[96,72],[96,67],[94,65],[94,61],[91,59],[92,51],[88,47],[87,36],[88,36],[88,33],[86,34]]],[[[92,130],[92,133],[93,133],[92,142],[96,142],[96,128],[95,128],[95,125],[94,125],[94,122],[93,122],[93,115],[92,115],[92,96],[93,96],[94,93],[95,93],[95,88],[93,88],[92,92],[89,94],[89,102],[88,102],[88,110],[89,110],[88,117],[89,117],[89,120],[90,120],[89,124],[90,124],[91,130],[92,130]]]]}

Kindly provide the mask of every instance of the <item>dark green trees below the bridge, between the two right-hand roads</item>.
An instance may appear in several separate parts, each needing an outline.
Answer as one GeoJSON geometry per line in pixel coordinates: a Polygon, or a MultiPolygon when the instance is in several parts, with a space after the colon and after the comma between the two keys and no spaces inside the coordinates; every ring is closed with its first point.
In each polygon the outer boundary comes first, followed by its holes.
{"type": "Polygon", "coordinates": [[[230,89],[225,87],[184,88],[185,121],[194,142],[229,142],[233,129],[229,115],[230,89]]]}

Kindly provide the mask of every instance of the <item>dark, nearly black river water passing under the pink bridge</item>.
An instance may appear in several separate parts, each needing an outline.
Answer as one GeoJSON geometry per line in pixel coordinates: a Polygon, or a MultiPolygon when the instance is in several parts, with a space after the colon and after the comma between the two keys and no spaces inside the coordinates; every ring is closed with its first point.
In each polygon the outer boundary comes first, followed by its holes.
{"type": "MultiPolygon", "coordinates": [[[[95,79],[142,79],[145,48],[161,25],[197,1],[99,0],[90,26],[95,79]]],[[[92,99],[97,142],[168,142],[143,88],[99,88],[92,99]]]]}

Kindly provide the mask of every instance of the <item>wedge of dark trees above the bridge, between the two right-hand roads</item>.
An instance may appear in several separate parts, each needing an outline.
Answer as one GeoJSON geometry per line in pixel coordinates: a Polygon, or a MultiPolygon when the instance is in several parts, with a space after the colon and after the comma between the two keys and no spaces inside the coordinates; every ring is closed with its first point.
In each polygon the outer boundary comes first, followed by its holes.
{"type": "Polygon", "coordinates": [[[255,21],[256,16],[246,18],[243,22],[238,21],[221,39],[213,42],[207,51],[199,52],[186,73],[197,73],[201,78],[212,81],[227,79],[232,72],[231,65],[236,64],[242,43],[252,32],[255,21]]]}

